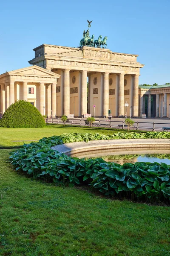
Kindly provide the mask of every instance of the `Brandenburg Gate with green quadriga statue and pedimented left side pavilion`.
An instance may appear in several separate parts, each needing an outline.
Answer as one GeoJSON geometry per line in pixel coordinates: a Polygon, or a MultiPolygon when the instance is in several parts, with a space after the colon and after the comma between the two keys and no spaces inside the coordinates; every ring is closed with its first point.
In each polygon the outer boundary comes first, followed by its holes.
{"type": "MultiPolygon", "coordinates": [[[[42,115],[139,116],[138,55],[106,49],[108,37],[83,32],[79,47],[42,44],[34,48],[33,66],[0,75],[0,111],[16,100],[33,104],[42,115]],[[87,84],[88,82],[88,84],[87,84]]],[[[142,113],[142,108],[141,111],[142,113]]],[[[140,114],[141,114],[140,113],[140,114]]]]}

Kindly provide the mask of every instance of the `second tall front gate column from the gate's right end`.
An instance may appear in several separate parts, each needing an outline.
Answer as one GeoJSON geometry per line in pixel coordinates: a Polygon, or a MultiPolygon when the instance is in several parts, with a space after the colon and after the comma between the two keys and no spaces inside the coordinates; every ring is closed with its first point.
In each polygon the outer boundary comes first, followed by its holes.
{"type": "Polygon", "coordinates": [[[124,74],[119,75],[119,111],[118,117],[124,116],[124,74]]]}

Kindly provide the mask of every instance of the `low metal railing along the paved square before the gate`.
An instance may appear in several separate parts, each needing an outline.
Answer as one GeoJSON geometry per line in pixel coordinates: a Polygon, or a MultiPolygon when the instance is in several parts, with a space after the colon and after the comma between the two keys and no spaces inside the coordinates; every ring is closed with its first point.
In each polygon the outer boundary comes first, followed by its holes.
{"type": "MultiPolygon", "coordinates": [[[[61,118],[47,118],[46,123],[48,124],[63,124],[61,118]]],[[[66,125],[77,125],[77,126],[89,126],[89,123],[86,121],[86,119],[67,119],[65,122],[66,125]]],[[[105,127],[105,128],[119,128],[120,130],[127,129],[127,125],[125,121],[113,121],[113,120],[96,120],[92,127],[105,127]]],[[[141,130],[151,130],[151,131],[157,131],[162,130],[163,127],[170,128],[170,124],[167,123],[161,123],[161,122],[134,122],[133,126],[130,127],[130,129],[141,131],[141,130]]]]}

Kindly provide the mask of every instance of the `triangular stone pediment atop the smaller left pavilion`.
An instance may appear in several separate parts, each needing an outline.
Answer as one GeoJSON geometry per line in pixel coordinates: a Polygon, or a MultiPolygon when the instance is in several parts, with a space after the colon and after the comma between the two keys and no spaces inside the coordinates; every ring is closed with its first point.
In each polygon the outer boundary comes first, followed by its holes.
{"type": "Polygon", "coordinates": [[[28,75],[28,76],[49,76],[59,78],[60,76],[54,72],[46,70],[45,68],[38,67],[36,65],[31,67],[25,67],[19,70],[13,70],[8,72],[9,75],[28,75]]]}

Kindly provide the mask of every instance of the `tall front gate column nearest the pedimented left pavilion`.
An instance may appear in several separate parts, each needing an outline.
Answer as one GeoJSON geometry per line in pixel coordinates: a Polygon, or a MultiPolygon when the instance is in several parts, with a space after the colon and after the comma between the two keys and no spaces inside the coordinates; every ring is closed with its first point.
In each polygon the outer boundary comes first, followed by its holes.
{"type": "Polygon", "coordinates": [[[63,90],[63,111],[64,115],[70,114],[70,70],[64,70],[64,90],[63,90]]]}

